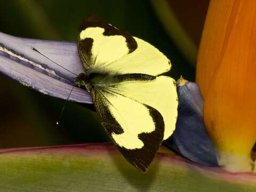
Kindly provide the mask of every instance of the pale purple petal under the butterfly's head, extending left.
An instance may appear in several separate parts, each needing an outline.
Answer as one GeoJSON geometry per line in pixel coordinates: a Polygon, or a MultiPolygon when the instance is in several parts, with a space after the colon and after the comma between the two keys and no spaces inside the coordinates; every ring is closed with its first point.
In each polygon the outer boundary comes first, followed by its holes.
{"type": "MultiPolygon", "coordinates": [[[[31,47],[75,74],[84,71],[74,42],[20,38],[0,32],[0,73],[41,93],[67,99],[75,75],[31,47]]],[[[90,93],[78,87],[74,87],[69,100],[92,103],[90,93]]]]}

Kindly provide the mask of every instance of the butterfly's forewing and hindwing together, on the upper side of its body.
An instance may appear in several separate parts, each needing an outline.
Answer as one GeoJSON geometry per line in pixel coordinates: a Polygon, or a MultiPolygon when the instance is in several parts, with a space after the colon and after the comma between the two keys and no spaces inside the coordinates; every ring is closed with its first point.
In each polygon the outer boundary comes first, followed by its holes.
{"type": "Polygon", "coordinates": [[[93,14],[79,28],[78,52],[86,69],[159,75],[171,68],[170,60],[156,47],[93,14]]]}

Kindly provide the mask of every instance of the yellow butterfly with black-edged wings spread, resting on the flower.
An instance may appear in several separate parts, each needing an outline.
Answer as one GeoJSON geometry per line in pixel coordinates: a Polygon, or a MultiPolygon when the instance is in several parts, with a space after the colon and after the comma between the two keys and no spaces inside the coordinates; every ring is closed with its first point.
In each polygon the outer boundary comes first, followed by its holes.
{"type": "Polygon", "coordinates": [[[133,166],[146,172],[177,120],[175,81],[159,76],[171,63],[153,45],[94,14],[78,30],[84,73],[75,84],[92,95],[101,124],[133,166]]]}

